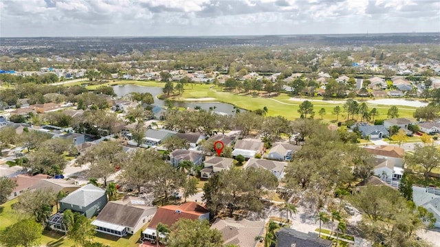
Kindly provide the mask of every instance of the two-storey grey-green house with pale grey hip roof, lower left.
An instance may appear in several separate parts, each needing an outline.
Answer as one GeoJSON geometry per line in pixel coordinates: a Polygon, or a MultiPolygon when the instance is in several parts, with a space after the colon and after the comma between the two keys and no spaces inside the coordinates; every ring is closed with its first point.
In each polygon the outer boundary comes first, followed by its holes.
{"type": "Polygon", "coordinates": [[[60,201],[60,211],[70,209],[83,213],[88,219],[97,215],[107,204],[107,194],[104,189],[95,185],[85,185],[69,194],[60,201]]]}

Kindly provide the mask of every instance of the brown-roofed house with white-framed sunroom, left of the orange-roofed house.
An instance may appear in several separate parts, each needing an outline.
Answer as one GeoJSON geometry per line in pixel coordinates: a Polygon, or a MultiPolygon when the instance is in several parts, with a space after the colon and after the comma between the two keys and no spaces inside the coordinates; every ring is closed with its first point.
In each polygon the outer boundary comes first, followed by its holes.
{"type": "Polygon", "coordinates": [[[142,198],[127,197],[107,203],[96,220],[91,222],[96,231],[117,237],[133,235],[149,222],[157,209],[146,206],[142,198]]]}

